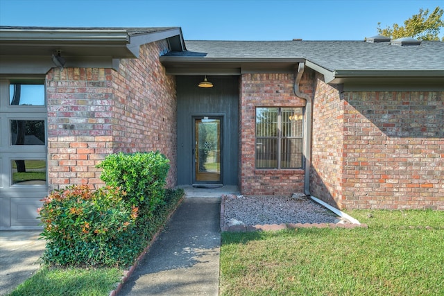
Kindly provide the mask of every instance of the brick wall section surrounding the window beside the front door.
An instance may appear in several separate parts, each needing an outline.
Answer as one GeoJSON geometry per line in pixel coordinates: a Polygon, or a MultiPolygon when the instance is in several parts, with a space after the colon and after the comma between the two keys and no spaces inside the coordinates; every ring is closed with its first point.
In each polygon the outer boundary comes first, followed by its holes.
{"type": "MultiPolygon", "coordinates": [[[[302,78],[302,89],[311,95],[311,76],[302,78]]],[[[255,108],[300,107],[305,100],[293,94],[293,74],[244,74],[239,107],[240,190],[244,195],[290,195],[304,191],[304,170],[255,168],[255,108]]]]}

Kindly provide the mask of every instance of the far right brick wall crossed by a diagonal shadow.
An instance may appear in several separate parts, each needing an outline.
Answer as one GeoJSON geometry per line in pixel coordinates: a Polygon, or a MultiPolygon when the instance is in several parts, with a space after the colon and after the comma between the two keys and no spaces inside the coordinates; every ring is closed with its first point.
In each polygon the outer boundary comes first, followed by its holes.
{"type": "Polygon", "coordinates": [[[343,207],[444,210],[444,92],[343,99],[343,207]]]}

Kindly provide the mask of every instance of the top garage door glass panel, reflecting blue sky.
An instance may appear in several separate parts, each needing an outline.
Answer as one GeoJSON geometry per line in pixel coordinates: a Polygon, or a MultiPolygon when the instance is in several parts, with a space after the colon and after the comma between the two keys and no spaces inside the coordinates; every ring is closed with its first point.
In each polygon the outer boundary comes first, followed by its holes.
{"type": "Polygon", "coordinates": [[[9,85],[9,105],[44,106],[44,85],[11,82],[9,85]]]}

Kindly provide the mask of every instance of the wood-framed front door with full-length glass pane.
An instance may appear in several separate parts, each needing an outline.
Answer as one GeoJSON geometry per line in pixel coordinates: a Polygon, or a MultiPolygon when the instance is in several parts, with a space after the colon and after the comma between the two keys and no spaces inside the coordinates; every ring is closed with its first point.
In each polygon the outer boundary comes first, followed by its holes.
{"type": "Polygon", "coordinates": [[[222,117],[194,117],[194,184],[221,184],[222,117]]]}

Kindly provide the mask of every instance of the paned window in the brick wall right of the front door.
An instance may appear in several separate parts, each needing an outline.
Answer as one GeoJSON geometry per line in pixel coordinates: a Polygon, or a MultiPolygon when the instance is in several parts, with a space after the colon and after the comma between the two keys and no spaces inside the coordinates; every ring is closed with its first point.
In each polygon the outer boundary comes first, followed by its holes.
{"type": "Polygon", "coordinates": [[[256,108],[256,168],[302,168],[302,107],[256,108]]]}

